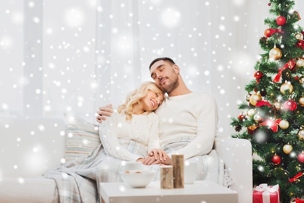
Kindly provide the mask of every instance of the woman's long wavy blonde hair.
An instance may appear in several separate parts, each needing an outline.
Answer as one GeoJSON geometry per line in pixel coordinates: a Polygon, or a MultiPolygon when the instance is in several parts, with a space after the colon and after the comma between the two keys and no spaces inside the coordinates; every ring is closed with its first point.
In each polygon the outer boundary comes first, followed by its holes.
{"type": "MultiPolygon", "coordinates": [[[[161,93],[164,97],[165,93],[158,88],[155,83],[151,81],[143,82],[137,87],[137,89],[127,94],[126,101],[118,106],[118,112],[124,112],[126,114],[126,120],[131,120],[135,106],[139,105],[140,100],[147,96],[149,90],[154,93],[161,93]]],[[[149,114],[150,112],[151,111],[146,111],[143,114],[149,114]]]]}

